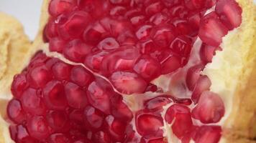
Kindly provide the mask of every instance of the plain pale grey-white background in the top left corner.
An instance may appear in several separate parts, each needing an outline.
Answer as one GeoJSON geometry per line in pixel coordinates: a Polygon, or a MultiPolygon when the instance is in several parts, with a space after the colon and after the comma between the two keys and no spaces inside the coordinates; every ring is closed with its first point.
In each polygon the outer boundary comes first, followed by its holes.
{"type": "Polygon", "coordinates": [[[42,0],[0,0],[0,11],[17,17],[30,39],[34,39],[39,25],[41,4],[42,0]]]}

